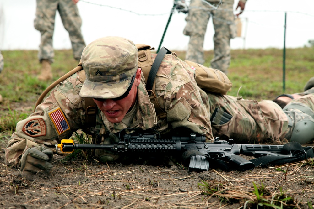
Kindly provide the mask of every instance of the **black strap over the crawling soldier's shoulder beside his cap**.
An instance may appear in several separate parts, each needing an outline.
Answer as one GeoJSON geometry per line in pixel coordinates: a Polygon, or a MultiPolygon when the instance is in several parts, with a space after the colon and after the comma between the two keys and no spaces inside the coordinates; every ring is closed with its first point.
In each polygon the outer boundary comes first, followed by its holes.
{"type": "MultiPolygon", "coordinates": [[[[159,53],[157,54],[155,60],[154,60],[152,68],[149,71],[148,79],[147,79],[147,82],[146,82],[146,90],[152,90],[153,85],[154,85],[154,81],[155,81],[155,76],[157,74],[158,68],[159,68],[160,63],[164,59],[164,56],[166,54],[171,54],[171,51],[169,51],[165,47],[162,47],[160,49],[159,53]]],[[[149,94],[150,94],[150,92],[149,92],[149,94]]]]}

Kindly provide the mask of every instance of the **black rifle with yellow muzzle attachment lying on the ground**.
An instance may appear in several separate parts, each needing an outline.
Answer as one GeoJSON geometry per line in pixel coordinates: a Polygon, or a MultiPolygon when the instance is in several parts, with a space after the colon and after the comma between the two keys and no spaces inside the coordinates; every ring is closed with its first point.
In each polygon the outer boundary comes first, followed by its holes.
{"type": "Polygon", "coordinates": [[[204,136],[196,136],[194,133],[189,137],[172,136],[166,139],[160,139],[156,133],[131,133],[119,138],[117,144],[74,144],[71,139],[63,139],[55,147],[56,152],[60,148],[61,152],[68,153],[74,149],[106,149],[117,153],[182,154],[184,160],[189,159],[189,172],[207,171],[209,167],[252,170],[257,166],[296,162],[314,156],[311,147],[302,147],[297,142],[285,145],[235,144],[233,139],[225,141],[216,137],[214,142],[206,143],[204,136]],[[247,160],[240,154],[254,156],[258,160],[247,160]]]}

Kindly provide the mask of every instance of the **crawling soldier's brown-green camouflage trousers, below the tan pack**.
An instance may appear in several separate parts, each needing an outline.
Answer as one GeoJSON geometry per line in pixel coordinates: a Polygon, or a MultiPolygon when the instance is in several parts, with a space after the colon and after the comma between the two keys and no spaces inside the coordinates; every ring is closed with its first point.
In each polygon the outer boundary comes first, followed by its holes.
{"type": "Polygon", "coordinates": [[[216,108],[232,118],[223,124],[211,123],[213,135],[221,139],[233,138],[236,143],[267,143],[284,139],[288,118],[273,101],[247,100],[228,95],[203,94],[208,113],[212,118],[216,108]]]}

